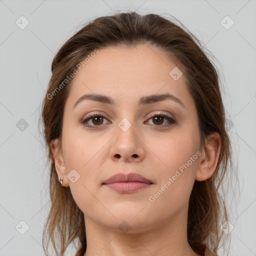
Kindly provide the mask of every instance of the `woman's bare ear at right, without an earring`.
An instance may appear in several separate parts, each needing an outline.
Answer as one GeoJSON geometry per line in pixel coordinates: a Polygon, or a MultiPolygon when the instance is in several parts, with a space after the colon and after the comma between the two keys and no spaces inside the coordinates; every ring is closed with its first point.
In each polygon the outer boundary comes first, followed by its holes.
{"type": "Polygon", "coordinates": [[[205,146],[201,148],[195,180],[202,181],[212,176],[218,162],[220,143],[221,138],[218,132],[212,132],[206,138],[205,146]]]}

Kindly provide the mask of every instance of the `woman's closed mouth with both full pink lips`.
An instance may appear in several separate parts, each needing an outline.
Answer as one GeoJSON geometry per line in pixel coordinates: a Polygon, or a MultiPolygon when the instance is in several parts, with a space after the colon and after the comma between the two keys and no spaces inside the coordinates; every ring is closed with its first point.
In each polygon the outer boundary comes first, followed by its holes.
{"type": "Polygon", "coordinates": [[[102,182],[102,185],[120,193],[131,193],[149,187],[151,184],[153,184],[151,180],[140,174],[122,172],[114,174],[102,182]]]}

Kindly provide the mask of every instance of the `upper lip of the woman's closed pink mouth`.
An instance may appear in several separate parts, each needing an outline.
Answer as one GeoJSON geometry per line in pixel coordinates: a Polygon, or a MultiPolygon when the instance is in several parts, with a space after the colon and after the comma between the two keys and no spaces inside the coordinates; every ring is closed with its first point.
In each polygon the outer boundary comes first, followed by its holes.
{"type": "Polygon", "coordinates": [[[128,174],[125,173],[117,173],[106,179],[102,182],[102,184],[110,184],[110,183],[117,183],[117,182],[142,182],[147,184],[152,184],[152,182],[145,178],[144,176],[130,172],[128,174]]]}

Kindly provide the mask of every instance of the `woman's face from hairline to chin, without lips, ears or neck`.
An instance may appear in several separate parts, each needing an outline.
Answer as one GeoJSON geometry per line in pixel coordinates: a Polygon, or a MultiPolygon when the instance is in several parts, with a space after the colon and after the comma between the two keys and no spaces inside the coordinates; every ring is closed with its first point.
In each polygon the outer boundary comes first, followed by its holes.
{"type": "Polygon", "coordinates": [[[72,171],[64,180],[85,221],[118,230],[125,220],[136,232],[186,212],[198,167],[199,129],[184,74],[176,80],[169,74],[174,67],[153,46],[106,47],[73,78],[61,157],[65,174],[72,171]],[[101,94],[112,103],[85,98],[75,104],[84,94],[101,94]],[[173,97],[140,104],[141,98],[160,94],[173,97]],[[119,172],[138,173],[152,184],[128,192],[102,184],[119,172]]]}

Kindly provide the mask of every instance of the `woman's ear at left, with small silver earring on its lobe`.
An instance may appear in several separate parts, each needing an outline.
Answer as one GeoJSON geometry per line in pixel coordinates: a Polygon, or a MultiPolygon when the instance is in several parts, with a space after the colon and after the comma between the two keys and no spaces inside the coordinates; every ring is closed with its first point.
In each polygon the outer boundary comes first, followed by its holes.
{"type": "Polygon", "coordinates": [[[51,151],[54,157],[55,169],[58,175],[58,180],[62,177],[62,186],[68,186],[68,180],[66,177],[66,168],[63,161],[63,154],[59,143],[59,138],[56,138],[50,142],[51,151]]]}

